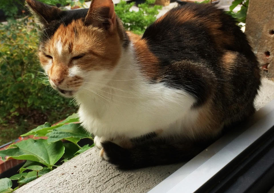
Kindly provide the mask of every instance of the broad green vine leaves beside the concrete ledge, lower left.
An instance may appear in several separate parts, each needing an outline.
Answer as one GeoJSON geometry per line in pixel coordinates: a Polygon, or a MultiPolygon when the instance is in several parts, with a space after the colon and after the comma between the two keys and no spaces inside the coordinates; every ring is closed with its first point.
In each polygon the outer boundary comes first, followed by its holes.
{"type": "Polygon", "coordinates": [[[10,145],[6,150],[0,151],[0,157],[4,161],[11,158],[27,160],[19,169],[19,174],[15,174],[9,179],[0,179],[0,187],[2,188],[3,186],[3,191],[12,191],[10,186],[11,180],[17,180],[20,187],[48,173],[61,162],[65,162],[93,147],[94,144],[91,146],[84,145],[83,147],[77,144],[79,140],[83,138],[93,140],[80,124],[77,123],[78,121],[79,118],[77,115],[73,114],[55,126],[45,123],[27,134],[34,136],[44,134],[44,136],[49,136],[48,139],[27,139],[10,145]],[[57,133],[60,133],[60,136],[56,135],[57,133]],[[3,185],[1,185],[1,183],[3,185]]]}

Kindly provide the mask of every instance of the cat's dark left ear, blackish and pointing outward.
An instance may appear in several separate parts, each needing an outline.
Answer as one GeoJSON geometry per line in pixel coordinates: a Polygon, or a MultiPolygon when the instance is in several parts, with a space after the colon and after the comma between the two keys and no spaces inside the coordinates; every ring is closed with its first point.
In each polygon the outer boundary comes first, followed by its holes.
{"type": "Polygon", "coordinates": [[[27,6],[33,15],[37,24],[41,27],[49,25],[49,23],[61,14],[62,10],[58,7],[47,5],[36,0],[26,0],[27,6]]]}

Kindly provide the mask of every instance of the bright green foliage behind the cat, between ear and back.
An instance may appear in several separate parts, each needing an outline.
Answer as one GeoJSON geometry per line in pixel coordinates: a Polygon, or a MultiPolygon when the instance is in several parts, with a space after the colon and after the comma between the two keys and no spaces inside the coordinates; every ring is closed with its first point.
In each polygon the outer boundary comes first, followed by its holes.
{"type": "Polygon", "coordinates": [[[156,20],[156,16],[159,13],[158,9],[162,8],[160,5],[152,6],[151,4],[153,3],[155,3],[155,0],[146,0],[145,3],[138,5],[138,11],[134,11],[130,10],[134,2],[126,3],[126,1],[121,0],[115,6],[115,12],[122,20],[126,30],[142,34],[146,27],[156,20]]]}

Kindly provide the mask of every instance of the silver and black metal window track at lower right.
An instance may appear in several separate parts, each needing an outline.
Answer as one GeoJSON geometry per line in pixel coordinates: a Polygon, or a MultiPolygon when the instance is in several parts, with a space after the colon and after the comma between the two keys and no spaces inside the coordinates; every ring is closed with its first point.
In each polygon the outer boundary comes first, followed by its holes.
{"type": "Polygon", "coordinates": [[[274,100],[149,193],[267,192],[274,185],[273,126],[274,100]]]}

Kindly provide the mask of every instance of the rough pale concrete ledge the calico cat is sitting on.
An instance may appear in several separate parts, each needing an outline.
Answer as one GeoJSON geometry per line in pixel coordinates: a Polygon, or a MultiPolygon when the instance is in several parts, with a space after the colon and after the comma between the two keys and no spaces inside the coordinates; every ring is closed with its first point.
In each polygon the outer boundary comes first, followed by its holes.
{"type": "MultiPolygon", "coordinates": [[[[255,101],[256,109],[260,109],[273,99],[274,82],[263,79],[261,91],[255,101]]],[[[48,174],[22,186],[15,193],[148,192],[183,165],[180,163],[121,171],[101,160],[98,153],[96,148],[91,148],[48,174]]]]}

